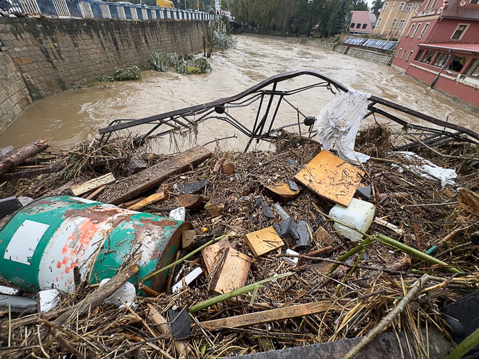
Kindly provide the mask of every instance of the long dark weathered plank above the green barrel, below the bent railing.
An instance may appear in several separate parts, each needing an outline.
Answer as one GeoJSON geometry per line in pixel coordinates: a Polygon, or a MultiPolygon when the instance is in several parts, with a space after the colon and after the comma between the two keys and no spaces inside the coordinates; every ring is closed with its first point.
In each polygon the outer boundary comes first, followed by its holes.
{"type": "Polygon", "coordinates": [[[160,184],[168,176],[200,164],[211,155],[211,151],[202,146],[190,148],[110,186],[104,191],[100,201],[111,204],[126,202],[160,184]]]}

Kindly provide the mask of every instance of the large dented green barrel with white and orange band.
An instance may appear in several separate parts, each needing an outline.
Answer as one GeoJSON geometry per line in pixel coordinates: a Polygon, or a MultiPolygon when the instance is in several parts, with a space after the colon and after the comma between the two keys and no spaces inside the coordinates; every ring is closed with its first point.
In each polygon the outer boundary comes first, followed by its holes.
{"type": "MultiPolygon", "coordinates": [[[[0,231],[0,274],[27,291],[75,289],[112,278],[141,253],[136,282],[176,258],[189,222],[61,195],[21,208],[0,231]]],[[[167,273],[145,284],[162,291],[167,273]]]]}

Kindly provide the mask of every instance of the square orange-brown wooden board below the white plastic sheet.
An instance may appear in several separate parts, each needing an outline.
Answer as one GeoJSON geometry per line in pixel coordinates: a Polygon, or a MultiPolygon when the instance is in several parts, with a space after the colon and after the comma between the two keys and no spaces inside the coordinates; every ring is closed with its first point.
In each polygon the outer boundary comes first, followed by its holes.
{"type": "Polygon", "coordinates": [[[297,175],[298,182],[311,191],[342,206],[348,206],[364,172],[323,150],[297,175]]]}

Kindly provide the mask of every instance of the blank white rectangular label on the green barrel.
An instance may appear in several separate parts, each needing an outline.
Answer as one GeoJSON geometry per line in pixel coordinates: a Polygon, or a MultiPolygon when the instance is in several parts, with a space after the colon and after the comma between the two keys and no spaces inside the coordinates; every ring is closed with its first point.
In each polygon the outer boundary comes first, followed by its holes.
{"type": "Polygon", "coordinates": [[[25,220],[15,234],[12,235],[3,258],[29,266],[30,262],[28,260],[32,258],[41,237],[43,237],[49,226],[49,224],[25,220]]]}

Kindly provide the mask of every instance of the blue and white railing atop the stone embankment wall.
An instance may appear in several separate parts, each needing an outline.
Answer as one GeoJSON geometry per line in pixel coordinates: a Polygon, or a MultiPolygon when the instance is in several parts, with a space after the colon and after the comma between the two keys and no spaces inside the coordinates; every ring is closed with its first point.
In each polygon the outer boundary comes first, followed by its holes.
{"type": "Polygon", "coordinates": [[[126,20],[212,20],[206,12],[160,8],[158,6],[113,3],[101,0],[10,0],[9,12],[44,14],[60,18],[97,18],[126,20]]]}

